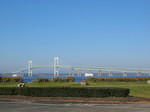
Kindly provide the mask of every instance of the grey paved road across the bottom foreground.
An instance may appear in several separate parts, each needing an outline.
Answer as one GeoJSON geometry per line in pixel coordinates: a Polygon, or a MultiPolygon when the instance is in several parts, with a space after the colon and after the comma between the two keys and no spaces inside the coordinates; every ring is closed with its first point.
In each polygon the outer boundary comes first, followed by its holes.
{"type": "Polygon", "coordinates": [[[53,104],[0,101],[0,112],[150,112],[150,104],[53,104]]]}

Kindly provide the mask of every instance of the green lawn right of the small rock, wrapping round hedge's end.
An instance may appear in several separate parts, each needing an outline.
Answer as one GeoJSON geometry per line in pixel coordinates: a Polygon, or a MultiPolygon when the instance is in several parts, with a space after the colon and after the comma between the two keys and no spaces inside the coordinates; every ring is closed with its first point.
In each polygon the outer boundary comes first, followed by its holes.
{"type": "Polygon", "coordinates": [[[138,82],[102,81],[102,82],[90,83],[89,86],[129,88],[130,96],[150,98],[150,84],[147,84],[146,81],[138,81],[138,82]]]}

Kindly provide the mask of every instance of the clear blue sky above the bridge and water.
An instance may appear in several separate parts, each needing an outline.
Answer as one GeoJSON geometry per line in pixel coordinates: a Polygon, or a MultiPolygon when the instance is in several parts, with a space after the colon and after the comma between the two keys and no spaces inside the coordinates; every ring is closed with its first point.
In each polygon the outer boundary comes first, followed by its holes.
{"type": "Polygon", "coordinates": [[[149,0],[0,0],[0,72],[34,64],[150,68],[149,0]]]}

